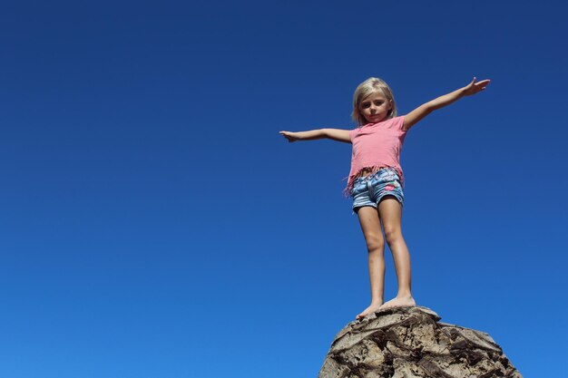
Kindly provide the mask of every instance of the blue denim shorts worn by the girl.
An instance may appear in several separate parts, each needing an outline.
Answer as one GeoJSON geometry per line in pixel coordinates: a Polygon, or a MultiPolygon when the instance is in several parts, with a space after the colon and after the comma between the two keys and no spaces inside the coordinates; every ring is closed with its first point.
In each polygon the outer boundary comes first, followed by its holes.
{"type": "Polygon", "coordinates": [[[385,168],[369,176],[355,179],[351,197],[353,198],[353,211],[359,208],[371,206],[377,208],[378,203],[385,196],[393,196],[404,204],[405,195],[400,184],[397,170],[385,168]]]}

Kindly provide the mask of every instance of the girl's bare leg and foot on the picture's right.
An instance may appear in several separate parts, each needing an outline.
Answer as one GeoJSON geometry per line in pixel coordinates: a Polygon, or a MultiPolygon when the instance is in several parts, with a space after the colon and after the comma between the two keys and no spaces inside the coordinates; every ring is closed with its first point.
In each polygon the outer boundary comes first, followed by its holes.
{"type": "Polygon", "coordinates": [[[410,253],[402,236],[402,205],[394,197],[387,196],[379,202],[378,213],[383,222],[388,247],[393,254],[398,281],[397,297],[381,308],[416,305],[411,293],[410,253]]]}

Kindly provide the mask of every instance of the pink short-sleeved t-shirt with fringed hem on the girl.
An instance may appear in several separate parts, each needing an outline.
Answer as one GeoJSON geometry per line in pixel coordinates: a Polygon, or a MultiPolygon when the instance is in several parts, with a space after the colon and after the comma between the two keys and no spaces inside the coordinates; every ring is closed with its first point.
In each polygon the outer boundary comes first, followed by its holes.
{"type": "Polygon", "coordinates": [[[404,182],[400,167],[400,151],[406,137],[406,131],[402,130],[404,122],[404,116],[400,116],[378,123],[367,123],[349,131],[353,154],[348,187],[345,189],[347,194],[353,188],[357,173],[364,168],[371,170],[393,168],[397,170],[401,184],[404,182]]]}

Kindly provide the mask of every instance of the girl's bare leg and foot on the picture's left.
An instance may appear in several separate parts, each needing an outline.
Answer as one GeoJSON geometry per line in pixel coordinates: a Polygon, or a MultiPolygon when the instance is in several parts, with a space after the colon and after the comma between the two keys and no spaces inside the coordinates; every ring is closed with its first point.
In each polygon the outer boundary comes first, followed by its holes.
{"type": "Polygon", "coordinates": [[[361,230],[367,242],[368,276],[371,281],[371,305],[357,319],[372,314],[383,305],[385,287],[385,239],[376,208],[366,206],[357,211],[361,230]]]}

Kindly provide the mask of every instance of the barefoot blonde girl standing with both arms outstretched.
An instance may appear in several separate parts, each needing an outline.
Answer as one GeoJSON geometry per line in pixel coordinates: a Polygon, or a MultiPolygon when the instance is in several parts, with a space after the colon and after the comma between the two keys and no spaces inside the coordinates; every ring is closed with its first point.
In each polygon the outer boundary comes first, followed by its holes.
{"type": "Polygon", "coordinates": [[[357,213],[367,242],[371,284],[371,304],[357,315],[357,319],[379,309],[416,305],[410,285],[410,255],[401,230],[404,177],[400,150],[406,132],[432,111],[485,90],[489,82],[477,82],[474,78],[465,87],[398,117],[397,105],[387,83],[372,77],[359,84],[353,96],[351,115],[357,122],[357,129],[280,131],[289,142],[328,138],[353,145],[346,194],[353,198],[353,211],[357,213]],[[397,296],[386,303],[383,302],[385,239],[393,255],[398,283],[397,296]]]}

